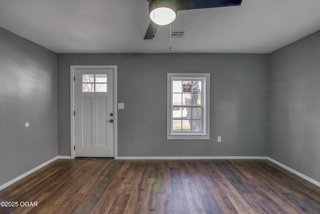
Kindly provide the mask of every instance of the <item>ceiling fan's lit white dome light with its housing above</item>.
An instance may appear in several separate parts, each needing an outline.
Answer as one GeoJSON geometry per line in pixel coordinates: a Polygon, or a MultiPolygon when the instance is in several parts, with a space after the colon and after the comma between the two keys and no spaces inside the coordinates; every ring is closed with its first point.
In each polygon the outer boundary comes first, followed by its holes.
{"type": "Polygon", "coordinates": [[[168,25],[176,17],[175,0],[150,0],[150,19],[157,25],[168,25]]]}

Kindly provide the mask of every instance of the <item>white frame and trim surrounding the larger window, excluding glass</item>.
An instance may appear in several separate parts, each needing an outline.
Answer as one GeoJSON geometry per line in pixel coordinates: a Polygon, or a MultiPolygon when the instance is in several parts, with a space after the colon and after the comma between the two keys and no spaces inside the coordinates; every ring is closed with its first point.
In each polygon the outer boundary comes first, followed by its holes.
{"type": "Polygon", "coordinates": [[[166,139],[210,139],[210,74],[209,73],[167,73],[166,139]],[[201,132],[172,132],[172,81],[190,79],[202,81],[201,132]]]}

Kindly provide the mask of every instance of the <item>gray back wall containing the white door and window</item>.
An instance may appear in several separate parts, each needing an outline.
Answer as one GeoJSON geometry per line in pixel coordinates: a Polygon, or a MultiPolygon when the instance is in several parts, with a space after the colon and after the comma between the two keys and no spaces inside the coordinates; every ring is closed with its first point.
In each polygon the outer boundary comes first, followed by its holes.
{"type": "Polygon", "coordinates": [[[70,155],[70,65],[117,65],[118,156],[267,155],[267,63],[257,54],[58,54],[58,154],[70,155]],[[210,73],[210,140],[166,140],[166,73],[210,73]],[[222,136],[222,143],[217,143],[222,136]]]}

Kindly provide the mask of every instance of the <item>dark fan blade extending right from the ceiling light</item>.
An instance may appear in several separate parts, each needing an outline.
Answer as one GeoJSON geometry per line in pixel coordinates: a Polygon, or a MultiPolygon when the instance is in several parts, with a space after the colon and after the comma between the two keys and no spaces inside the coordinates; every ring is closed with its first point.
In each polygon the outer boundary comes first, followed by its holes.
{"type": "Polygon", "coordinates": [[[239,6],[242,0],[176,0],[177,11],[239,6]]]}

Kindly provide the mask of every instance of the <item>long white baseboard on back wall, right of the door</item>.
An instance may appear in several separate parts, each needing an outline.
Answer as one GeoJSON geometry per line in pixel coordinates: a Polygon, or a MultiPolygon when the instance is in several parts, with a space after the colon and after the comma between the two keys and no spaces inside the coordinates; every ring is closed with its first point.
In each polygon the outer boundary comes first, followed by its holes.
{"type": "Polygon", "coordinates": [[[116,159],[119,160],[194,160],[194,159],[258,159],[258,160],[267,160],[268,157],[261,156],[133,156],[133,157],[124,157],[117,156],[116,159]]]}

